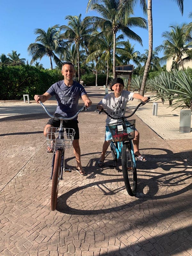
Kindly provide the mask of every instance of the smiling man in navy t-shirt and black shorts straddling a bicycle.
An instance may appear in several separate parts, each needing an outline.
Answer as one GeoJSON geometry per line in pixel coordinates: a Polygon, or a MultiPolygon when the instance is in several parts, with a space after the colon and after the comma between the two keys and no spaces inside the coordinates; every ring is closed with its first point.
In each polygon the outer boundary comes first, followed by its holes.
{"type": "MultiPolygon", "coordinates": [[[[45,102],[46,100],[49,100],[52,95],[55,95],[57,100],[57,109],[55,115],[57,116],[59,114],[62,116],[71,117],[74,116],[77,112],[79,97],[82,98],[86,107],[90,107],[92,102],[87,96],[83,85],[73,81],[75,69],[71,62],[63,63],[61,73],[64,76],[64,80],[52,84],[47,92],[45,92],[43,95],[35,95],[34,99],[37,103],[39,100],[45,102]]],[[[78,171],[80,175],[86,175],[81,165],[81,150],[79,146],[79,128],[77,117],[72,120],[68,120],[67,123],[63,122],[63,124],[65,127],[73,128],[75,130],[73,148],[77,162],[76,171],[78,171]]],[[[47,136],[47,129],[50,127],[59,126],[60,121],[53,120],[51,118],[44,128],[44,136],[47,136]]],[[[52,148],[47,147],[47,152],[52,153],[52,148]]]]}

